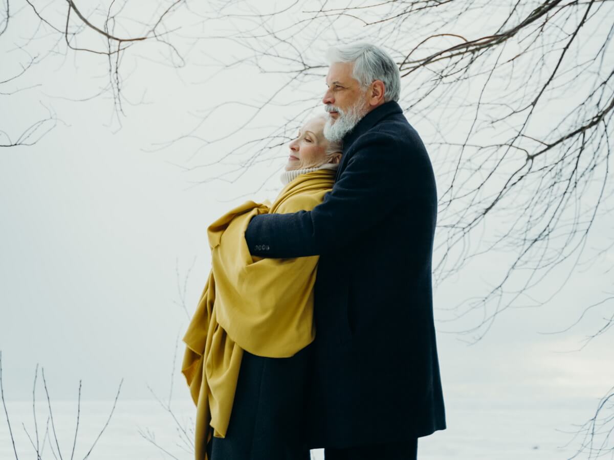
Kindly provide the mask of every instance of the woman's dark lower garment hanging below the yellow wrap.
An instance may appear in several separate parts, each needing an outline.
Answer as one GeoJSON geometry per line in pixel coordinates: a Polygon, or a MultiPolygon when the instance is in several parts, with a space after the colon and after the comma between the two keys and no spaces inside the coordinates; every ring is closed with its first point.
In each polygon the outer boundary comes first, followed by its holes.
{"type": "Polygon", "coordinates": [[[209,460],[309,460],[303,445],[309,347],[291,358],[244,351],[225,438],[212,437],[209,460]]]}

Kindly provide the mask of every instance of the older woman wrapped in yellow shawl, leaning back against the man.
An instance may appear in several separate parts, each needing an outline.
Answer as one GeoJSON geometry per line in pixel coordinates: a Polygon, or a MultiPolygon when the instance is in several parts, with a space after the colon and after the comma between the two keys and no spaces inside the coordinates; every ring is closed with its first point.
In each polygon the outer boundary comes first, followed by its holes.
{"type": "Polygon", "coordinates": [[[341,146],[309,120],[290,142],[273,204],[248,201],[208,228],[211,273],[184,336],[196,460],[309,459],[302,440],[317,256],[252,257],[254,215],[311,210],[332,189],[341,146]]]}

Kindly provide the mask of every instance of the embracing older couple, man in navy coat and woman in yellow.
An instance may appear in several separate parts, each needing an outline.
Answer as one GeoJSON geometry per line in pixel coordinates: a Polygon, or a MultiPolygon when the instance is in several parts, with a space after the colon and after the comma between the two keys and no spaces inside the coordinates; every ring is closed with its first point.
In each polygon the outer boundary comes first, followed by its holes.
{"type": "Polygon", "coordinates": [[[182,364],[196,460],[410,460],[446,426],[430,159],[386,52],[328,62],[325,113],[290,142],[278,197],[208,228],[182,364]]]}

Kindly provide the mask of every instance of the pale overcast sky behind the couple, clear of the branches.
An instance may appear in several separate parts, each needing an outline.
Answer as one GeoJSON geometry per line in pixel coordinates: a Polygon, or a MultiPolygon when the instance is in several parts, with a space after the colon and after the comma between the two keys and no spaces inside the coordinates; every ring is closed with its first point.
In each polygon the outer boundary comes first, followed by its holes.
{"type": "MultiPolygon", "coordinates": [[[[15,49],[36,21],[20,10],[9,38],[1,42],[0,80],[18,68],[25,55],[15,49]],[[10,51],[10,52],[9,52],[10,51]],[[5,66],[4,64],[9,64],[5,66]]],[[[344,30],[347,37],[351,30],[344,30]]],[[[4,37],[3,37],[4,38],[4,37]]],[[[230,46],[230,45],[229,45],[230,46]]],[[[325,44],[322,44],[325,48],[325,44]]],[[[216,44],[212,55],[231,48],[216,44]]],[[[157,50],[145,49],[147,56],[157,50]]],[[[151,57],[150,56],[150,57],[151,57]]],[[[159,57],[159,56],[158,56],[159,57]]],[[[126,83],[128,97],[121,129],[112,117],[112,100],[94,94],[105,82],[105,67],[91,56],[63,59],[50,56],[26,78],[2,91],[40,86],[12,96],[0,96],[0,129],[18,132],[52,107],[61,120],[31,147],[0,151],[0,349],[4,391],[12,400],[29,399],[34,367],[40,364],[54,399],[75,399],[83,380],[84,399],[112,399],[124,378],[123,399],[150,399],[146,385],[168,391],[177,340],[175,395],[187,399],[179,373],[184,350],[181,337],[188,323],[177,288],[187,280],[185,304],[195,309],[209,271],[206,227],[243,201],[244,196],[273,198],[281,188],[276,171],[286,159],[260,164],[238,182],[195,182],[216,175],[195,153],[197,143],[152,149],[191,128],[197,110],[219,102],[254,101],[275,91],[283,77],[237,68],[206,80],[211,69],[187,66],[176,70],[149,61],[128,60],[133,73],[126,83]],[[138,66],[131,67],[134,62],[138,66]],[[199,83],[205,82],[206,83],[199,83]],[[273,175],[260,189],[263,179],[273,175]]],[[[411,82],[405,82],[409,91],[411,82]]],[[[324,88],[313,86],[316,105],[324,88]]],[[[258,115],[262,125],[283,123],[295,108],[278,108],[258,115]]],[[[239,105],[221,110],[207,134],[237,126],[249,115],[239,105]]],[[[411,120],[419,132],[427,131],[411,120]]],[[[250,139],[254,132],[236,136],[250,139]]],[[[429,147],[437,158],[437,148],[429,147]]],[[[224,144],[220,145],[223,152],[224,144]]],[[[201,156],[199,156],[201,155],[201,156]]],[[[204,154],[203,154],[204,155],[204,154]]],[[[437,174],[437,171],[435,171],[437,174]]],[[[593,247],[607,242],[612,222],[600,221],[593,247]]],[[[500,266],[500,255],[484,256],[461,274],[439,286],[435,306],[447,308],[471,296],[474,286],[500,266]]],[[[438,347],[446,401],[500,395],[540,401],[545,398],[602,396],[614,385],[611,350],[614,335],[594,340],[581,352],[585,334],[593,332],[605,309],[590,312],[577,328],[555,335],[573,323],[583,305],[611,289],[612,252],[598,264],[576,272],[554,299],[534,309],[502,313],[483,340],[468,346],[454,331],[462,321],[437,323],[438,347]]],[[[543,298],[564,280],[561,267],[544,282],[543,298]]],[[[438,318],[447,317],[437,312],[438,318]]],[[[593,406],[586,408],[587,418],[593,406]]]]}

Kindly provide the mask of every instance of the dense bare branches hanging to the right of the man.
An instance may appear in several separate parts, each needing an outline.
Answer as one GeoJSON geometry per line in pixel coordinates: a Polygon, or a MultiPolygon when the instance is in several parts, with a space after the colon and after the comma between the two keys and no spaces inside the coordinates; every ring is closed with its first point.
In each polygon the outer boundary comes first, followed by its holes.
{"type": "MultiPolygon", "coordinates": [[[[422,44],[437,37],[429,36],[400,64],[406,77],[433,72],[424,93],[439,91],[439,102],[444,95],[453,101],[451,92],[465,81],[473,80],[480,88],[474,93],[478,97],[464,101],[468,113],[473,112],[465,139],[442,142],[453,151],[454,161],[441,194],[441,228],[447,234],[437,270],[445,278],[473,256],[457,256],[455,249],[467,245],[468,236],[491,215],[494,221],[499,221],[497,214],[509,218],[507,229],[488,249],[505,248],[515,256],[486,296],[459,309],[464,315],[494,301],[494,308],[484,310],[483,321],[466,331],[474,340],[488,331],[502,309],[522,302],[523,294],[549,270],[580,256],[607,197],[607,132],[612,131],[614,113],[614,66],[607,62],[614,23],[603,20],[608,11],[610,6],[597,1],[542,2],[526,13],[515,4],[492,34],[457,36],[459,44],[416,56],[422,44]],[[596,26],[604,34],[581,53],[580,36],[591,39],[590,28],[596,26]],[[506,52],[508,44],[513,44],[511,52],[506,52]],[[497,84],[497,79],[502,82],[497,84]],[[489,87],[499,92],[494,100],[486,99],[489,87]],[[569,102],[561,112],[549,110],[554,100],[563,98],[569,102]],[[540,112],[554,115],[556,123],[543,123],[543,115],[542,121],[532,123],[540,112]],[[513,281],[521,270],[528,274],[513,281]]],[[[424,95],[410,101],[408,110],[421,107],[422,101],[424,95]]]]}

